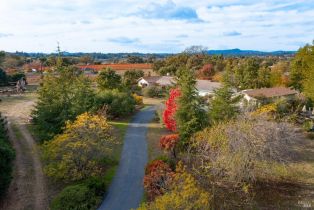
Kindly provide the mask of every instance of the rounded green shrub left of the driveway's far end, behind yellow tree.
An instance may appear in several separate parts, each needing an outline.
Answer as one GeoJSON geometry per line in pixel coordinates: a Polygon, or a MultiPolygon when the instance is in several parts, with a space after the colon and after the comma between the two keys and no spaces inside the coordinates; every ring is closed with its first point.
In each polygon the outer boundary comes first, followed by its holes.
{"type": "Polygon", "coordinates": [[[94,111],[101,109],[108,118],[128,116],[135,110],[134,97],[118,90],[101,91],[96,95],[94,111]]]}

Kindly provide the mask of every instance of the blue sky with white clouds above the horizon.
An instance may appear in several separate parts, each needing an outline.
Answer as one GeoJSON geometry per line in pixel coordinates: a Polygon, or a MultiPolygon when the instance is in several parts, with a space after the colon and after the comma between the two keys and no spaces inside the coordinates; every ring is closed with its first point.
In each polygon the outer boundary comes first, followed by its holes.
{"type": "Polygon", "coordinates": [[[0,0],[0,50],[297,50],[314,39],[314,0],[0,0]]]}

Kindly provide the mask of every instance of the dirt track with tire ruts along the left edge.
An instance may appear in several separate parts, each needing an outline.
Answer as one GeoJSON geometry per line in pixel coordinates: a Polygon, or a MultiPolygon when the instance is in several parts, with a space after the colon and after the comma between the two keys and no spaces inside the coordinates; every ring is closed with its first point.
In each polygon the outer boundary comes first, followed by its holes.
{"type": "Polygon", "coordinates": [[[9,137],[16,151],[14,178],[0,209],[45,210],[47,190],[39,150],[26,127],[34,101],[15,99],[0,104],[0,111],[8,118],[9,137]]]}

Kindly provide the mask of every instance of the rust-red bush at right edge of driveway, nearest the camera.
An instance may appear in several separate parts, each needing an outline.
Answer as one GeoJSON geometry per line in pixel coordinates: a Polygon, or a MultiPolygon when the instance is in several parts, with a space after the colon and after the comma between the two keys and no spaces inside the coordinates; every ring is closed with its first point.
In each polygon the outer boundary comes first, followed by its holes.
{"type": "Polygon", "coordinates": [[[150,201],[164,194],[174,177],[170,166],[162,160],[155,160],[148,164],[145,174],[144,188],[150,201]]]}

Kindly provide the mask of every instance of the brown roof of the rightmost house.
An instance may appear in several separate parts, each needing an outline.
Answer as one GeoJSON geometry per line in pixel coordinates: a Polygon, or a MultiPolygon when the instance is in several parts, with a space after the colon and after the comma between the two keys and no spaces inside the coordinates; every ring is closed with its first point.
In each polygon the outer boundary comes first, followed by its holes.
{"type": "Polygon", "coordinates": [[[280,96],[295,95],[298,92],[296,90],[292,90],[286,87],[274,87],[274,88],[244,90],[243,93],[253,98],[256,98],[256,97],[273,98],[273,97],[280,97],[280,96]]]}

